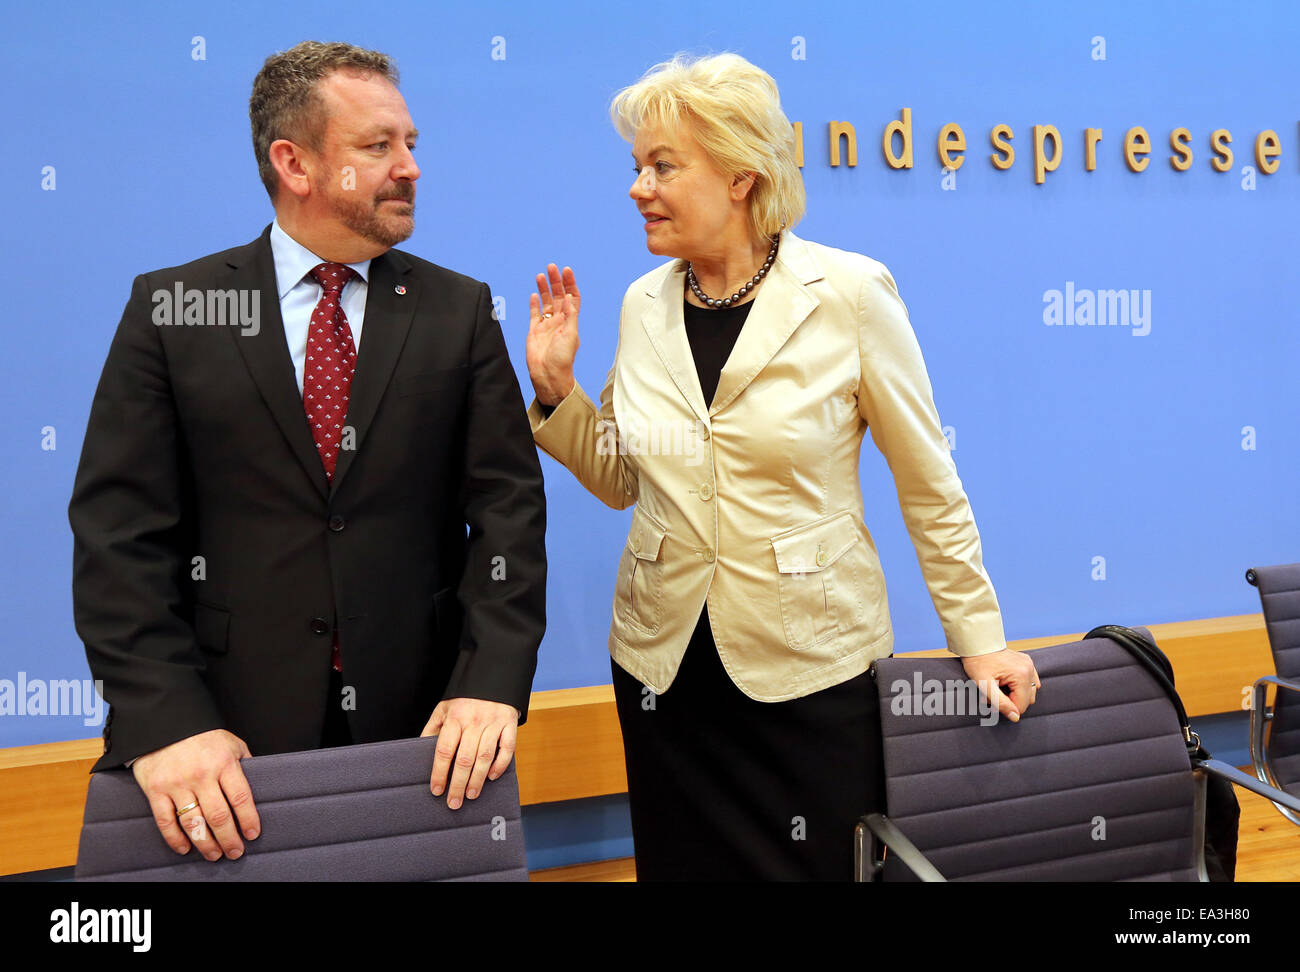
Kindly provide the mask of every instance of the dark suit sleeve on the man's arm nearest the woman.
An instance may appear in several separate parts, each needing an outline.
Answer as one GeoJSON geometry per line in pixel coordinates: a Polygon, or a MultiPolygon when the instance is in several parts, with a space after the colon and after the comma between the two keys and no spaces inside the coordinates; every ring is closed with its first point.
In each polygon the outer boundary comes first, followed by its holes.
{"type": "Polygon", "coordinates": [[[546,494],[488,285],[469,366],[460,492],[469,535],[458,590],[464,622],[443,698],[503,702],[523,724],[546,630],[546,494]]]}

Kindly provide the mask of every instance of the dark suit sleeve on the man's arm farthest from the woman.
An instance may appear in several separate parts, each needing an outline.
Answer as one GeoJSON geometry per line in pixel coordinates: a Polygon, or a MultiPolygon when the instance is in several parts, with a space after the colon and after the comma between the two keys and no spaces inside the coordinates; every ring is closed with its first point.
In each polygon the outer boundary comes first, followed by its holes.
{"type": "Polygon", "coordinates": [[[182,596],[191,552],[185,443],[150,292],[136,277],[68,508],[77,633],[110,704],[96,771],[224,728],[182,596]]]}

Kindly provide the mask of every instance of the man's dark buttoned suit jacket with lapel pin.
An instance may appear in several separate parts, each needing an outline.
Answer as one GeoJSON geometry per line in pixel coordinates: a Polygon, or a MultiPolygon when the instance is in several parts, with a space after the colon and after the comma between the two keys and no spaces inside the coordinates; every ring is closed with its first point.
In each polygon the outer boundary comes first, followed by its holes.
{"type": "Polygon", "coordinates": [[[372,261],[355,448],[328,483],[269,233],[136,277],[95,392],[69,520],[110,704],[96,771],[217,728],[255,755],[317,747],[335,619],[356,742],[417,735],[443,698],[528,715],[545,496],[488,286],[372,261]],[[155,324],[177,283],[257,291],[260,330],[155,324]]]}

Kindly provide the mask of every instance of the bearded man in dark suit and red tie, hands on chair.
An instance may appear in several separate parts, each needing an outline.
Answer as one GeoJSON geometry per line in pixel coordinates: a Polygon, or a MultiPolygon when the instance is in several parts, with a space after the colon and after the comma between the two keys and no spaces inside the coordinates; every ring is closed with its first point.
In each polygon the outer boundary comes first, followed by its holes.
{"type": "Polygon", "coordinates": [[[391,249],[420,174],[396,81],[348,44],[268,58],[274,224],[138,277],[95,392],[69,507],[95,769],[130,765],[182,854],[260,832],[243,756],[438,734],[456,808],[526,716],[541,468],[488,286],[391,249]]]}

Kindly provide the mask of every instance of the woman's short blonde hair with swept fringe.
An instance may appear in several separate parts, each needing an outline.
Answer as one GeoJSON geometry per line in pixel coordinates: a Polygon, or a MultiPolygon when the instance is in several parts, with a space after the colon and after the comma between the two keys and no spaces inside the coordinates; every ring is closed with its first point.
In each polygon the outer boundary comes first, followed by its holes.
{"type": "Polygon", "coordinates": [[[614,127],[628,142],[645,125],[672,131],[684,122],[728,177],[755,173],[749,225],[771,239],[803,216],[807,198],[794,156],[794,129],[772,77],[740,55],[677,55],[614,96],[614,127]]]}

